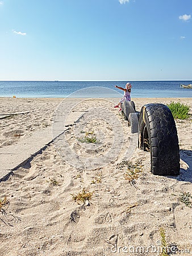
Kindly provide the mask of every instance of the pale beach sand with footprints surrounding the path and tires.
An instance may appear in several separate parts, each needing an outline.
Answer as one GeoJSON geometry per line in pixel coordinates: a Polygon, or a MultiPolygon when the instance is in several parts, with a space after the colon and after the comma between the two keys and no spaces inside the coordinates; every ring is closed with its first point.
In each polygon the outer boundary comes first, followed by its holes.
{"type": "MultiPolygon", "coordinates": [[[[160,228],[172,249],[169,255],[192,253],[191,208],[180,200],[183,193],[192,195],[191,118],[176,120],[180,176],[155,176],[150,152],[137,148],[137,134],[131,134],[127,121],[114,109],[118,98],[65,99],[62,106],[63,100],[0,99],[2,114],[29,112],[0,120],[0,149],[51,129],[56,113],[61,114],[64,106],[70,109],[71,101],[77,104],[72,114],[83,113],[55,142],[1,181],[0,198],[6,196],[9,207],[3,207],[6,214],[0,213],[0,255],[160,255],[160,228]],[[95,136],[97,143],[84,142],[95,136]],[[64,140],[68,155],[61,150],[64,140]],[[119,165],[126,156],[139,170],[136,183],[125,179],[126,164],[119,165]],[[97,160],[93,164],[90,159],[97,160]],[[73,196],[82,191],[91,192],[92,198],[78,204],[73,196]]],[[[138,111],[148,103],[180,101],[192,114],[191,98],[132,100],[138,111]]]]}

